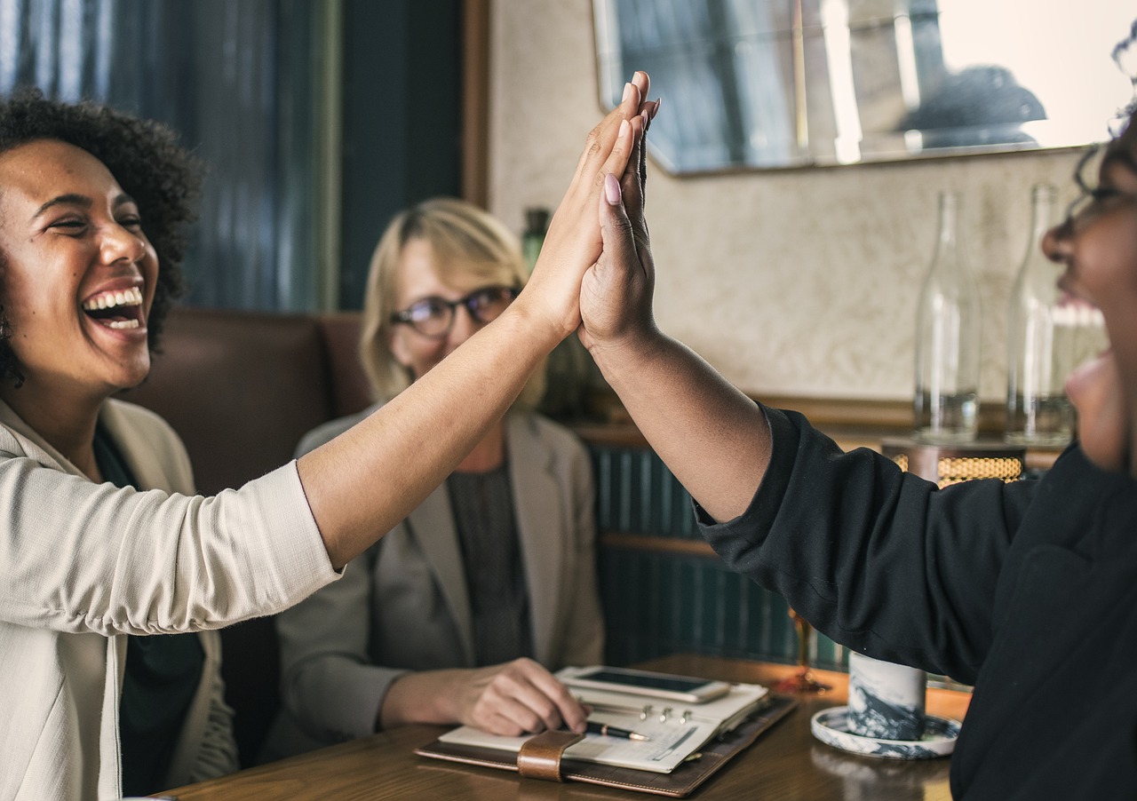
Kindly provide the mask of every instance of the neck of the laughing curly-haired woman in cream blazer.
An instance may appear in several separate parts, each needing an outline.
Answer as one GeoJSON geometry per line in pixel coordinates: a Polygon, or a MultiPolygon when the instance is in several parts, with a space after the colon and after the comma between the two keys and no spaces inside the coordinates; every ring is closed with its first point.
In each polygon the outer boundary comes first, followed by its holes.
{"type": "Polygon", "coordinates": [[[94,460],[94,426],[106,398],[77,399],[33,381],[18,390],[5,384],[0,398],[86,477],[101,481],[94,460]]]}

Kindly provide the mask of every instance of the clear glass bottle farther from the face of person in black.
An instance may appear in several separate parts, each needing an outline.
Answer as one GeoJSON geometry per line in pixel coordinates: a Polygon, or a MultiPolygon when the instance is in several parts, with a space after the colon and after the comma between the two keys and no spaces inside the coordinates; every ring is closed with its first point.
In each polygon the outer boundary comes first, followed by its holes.
{"type": "Polygon", "coordinates": [[[979,292],[960,242],[960,194],[939,194],[939,237],[916,308],[915,437],[970,442],[979,425],[979,292]]]}

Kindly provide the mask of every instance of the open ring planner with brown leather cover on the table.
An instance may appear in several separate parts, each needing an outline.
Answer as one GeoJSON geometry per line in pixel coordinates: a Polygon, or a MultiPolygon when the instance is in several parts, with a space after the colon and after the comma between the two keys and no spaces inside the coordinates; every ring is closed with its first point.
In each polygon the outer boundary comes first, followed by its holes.
{"type": "MultiPolygon", "coordinates": [[[[725,695],[704,703],[579,686],[571,690],[592,707],[590,721],[649,740],[587,734],[556,754],[561,762],[556,778],[675,796],[691,792],[795,704],[757,684],[732,684],[725,695]]],[[[520,754],[539,737],[504,737],[460,726],[416,752],[526,775],[520,754]]],[[[565,742],[570,741],[571,735],[565,742]]]]}

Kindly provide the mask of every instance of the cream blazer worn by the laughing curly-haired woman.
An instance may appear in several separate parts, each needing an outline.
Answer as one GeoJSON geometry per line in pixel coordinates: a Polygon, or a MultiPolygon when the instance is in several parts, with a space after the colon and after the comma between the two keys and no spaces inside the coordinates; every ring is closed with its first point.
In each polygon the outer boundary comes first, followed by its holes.
{"type": "Polygon", "coordinates": [[[122,634],[202,632],[169,786],[236,767],[215,632],[332,581],[294,462],[215,499],[157,415],[101,422],[139,492],[94,484],[0,402],[0,799],[122,795],[122,634]]]}

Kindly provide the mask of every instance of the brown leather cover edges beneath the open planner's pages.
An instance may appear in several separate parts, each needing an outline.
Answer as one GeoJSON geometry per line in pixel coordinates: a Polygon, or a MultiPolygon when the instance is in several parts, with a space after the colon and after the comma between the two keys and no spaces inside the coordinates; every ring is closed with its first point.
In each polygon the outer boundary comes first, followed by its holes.
{"type": "MultiPolygon", "coordinates": [[[[699,759],[683,762],[669,774],[564,759],[559,762],[561,779],[623,787],[624,790],[637,790],[672,798],[686,798],[796,706],[797,701],[792,698],[771,695],[770,703],[755,712],[753,718],[742,723],[733,732],[704,745],[700,749],[703,756],[699,759]]],[[[415,753],[451,762],[517,770],[518,754],[501,749],[445,743],[435,740],[428,745],[415,749],[415,753]]]]}

